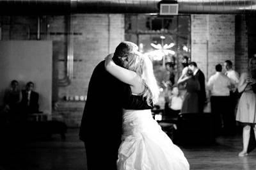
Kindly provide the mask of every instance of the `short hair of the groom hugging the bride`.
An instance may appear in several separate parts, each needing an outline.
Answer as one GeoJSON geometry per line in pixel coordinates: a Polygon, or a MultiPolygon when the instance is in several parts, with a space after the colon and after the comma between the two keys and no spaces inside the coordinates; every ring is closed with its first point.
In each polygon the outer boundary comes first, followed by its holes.
{"type": "Polygon", "coordinates": [[[119,43],[119,45],[116,47],[113,60],[118,61],[118,58],[124,57],[125,54],[132,52],[132,50],[138,50],[138,46],[135,43],[132,43],[132,42],[119,43]]]}

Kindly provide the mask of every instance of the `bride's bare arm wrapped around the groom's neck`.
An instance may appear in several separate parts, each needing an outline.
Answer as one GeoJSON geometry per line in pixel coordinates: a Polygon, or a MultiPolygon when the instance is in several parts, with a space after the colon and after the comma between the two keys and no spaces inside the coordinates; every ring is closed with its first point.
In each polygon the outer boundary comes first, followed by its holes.
{"type": "Polygon", "coordinates": [[[122,68],[121,66],[116,65],[112,57],[112,54],[109,54],[105,58],[106,70],[120,81],[125,82],[126,84],[129,84],[131,86],[136,86],[136,84],[138,84],[138,74],[136,72],[127,70],[125,68],[122,68]]]}

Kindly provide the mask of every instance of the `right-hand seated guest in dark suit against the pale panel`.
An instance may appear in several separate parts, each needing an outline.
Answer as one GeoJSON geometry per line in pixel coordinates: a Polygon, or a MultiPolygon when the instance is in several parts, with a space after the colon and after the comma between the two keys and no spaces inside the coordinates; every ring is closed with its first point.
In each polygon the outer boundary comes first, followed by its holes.
{"type": "Polygon", "coordinates": [[[25,114],[38,112],[38,98],[39,95],[33,91],[35,84],[28,82],[26,89],[22,90],[21,107],[25,114]]]}

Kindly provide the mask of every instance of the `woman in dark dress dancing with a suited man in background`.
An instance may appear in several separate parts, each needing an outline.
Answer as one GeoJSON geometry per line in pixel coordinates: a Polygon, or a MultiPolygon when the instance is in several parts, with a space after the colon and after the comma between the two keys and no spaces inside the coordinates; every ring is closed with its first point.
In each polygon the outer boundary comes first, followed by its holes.
{"type": "Polygon", "coordinates": [[[193,71],[189,69],[186,75],[181,76],[177,83],[186,83],[186,93],[180,112],[199,112],[198,91],[200,90],[200,84],[193,75],[193,71]]]}

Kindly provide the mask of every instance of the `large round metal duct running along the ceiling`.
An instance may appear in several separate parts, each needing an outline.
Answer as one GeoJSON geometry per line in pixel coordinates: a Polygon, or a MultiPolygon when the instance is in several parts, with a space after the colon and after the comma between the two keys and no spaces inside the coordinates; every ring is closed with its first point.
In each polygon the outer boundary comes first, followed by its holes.
{"type": "MultiPolygon", "coordinates": [[[[159,13],[161,0],[0,0],[4,15],[159,13]]],[[[168,1],[173,0],[164,0],[168,1]]],[[[255,0],[177,0],[179,13],[256,13],[255,0]]]]}

